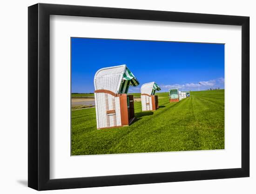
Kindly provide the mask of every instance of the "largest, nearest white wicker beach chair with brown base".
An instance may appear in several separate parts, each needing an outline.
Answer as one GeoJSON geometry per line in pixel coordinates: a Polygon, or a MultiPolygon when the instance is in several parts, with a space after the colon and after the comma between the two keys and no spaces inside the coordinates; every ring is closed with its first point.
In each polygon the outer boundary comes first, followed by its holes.
{"type": "Polygon", "coordinates": [[[134,101],[129,86],[139,82],[126,65],[106,67],[94,76],[97,129],[127,126],[134,119],[134,101]]]}

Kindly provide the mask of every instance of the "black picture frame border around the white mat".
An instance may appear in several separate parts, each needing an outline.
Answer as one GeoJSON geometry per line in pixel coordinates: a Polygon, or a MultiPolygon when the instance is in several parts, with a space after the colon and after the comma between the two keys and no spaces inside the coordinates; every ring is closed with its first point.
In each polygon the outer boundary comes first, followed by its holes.
{"type": "Polygon", "coordinates": [[[36,190],[102,187],[249,176],[249,17],[108,7],[36,4],[28,7],[28,187],[36,190]],[[67,179],[50,171],[50,15],[242,26],[242,167],[67,179]]]}

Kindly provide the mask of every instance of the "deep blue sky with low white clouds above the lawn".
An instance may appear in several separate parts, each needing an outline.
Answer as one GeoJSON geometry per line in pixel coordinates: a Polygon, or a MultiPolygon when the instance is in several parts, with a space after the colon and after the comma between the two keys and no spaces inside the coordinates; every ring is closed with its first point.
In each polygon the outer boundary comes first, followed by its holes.
{"type": "Polygon", "coordinates": [[[151,81],[161,92],[224,88],[224,44],[71,38],[72,93],[93,93],[96,71],[122,64],[140,82],[129,93],[151,81]]]}

